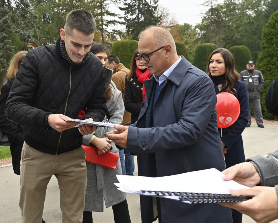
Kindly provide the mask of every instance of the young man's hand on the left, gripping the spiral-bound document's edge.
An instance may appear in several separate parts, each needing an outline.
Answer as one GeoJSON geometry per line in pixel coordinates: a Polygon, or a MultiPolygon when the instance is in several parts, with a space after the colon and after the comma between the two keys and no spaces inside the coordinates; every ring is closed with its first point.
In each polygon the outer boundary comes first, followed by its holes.
{"type": "Polygon", "coordinates": [[[69,117],[63,115],[63,114],[50,114],[48,116],[48,125],[57,130],[58,132],[70,129],[76,125],[78,125],[79,122],[65,122],[64,120],[70,119],[69,117]]]}

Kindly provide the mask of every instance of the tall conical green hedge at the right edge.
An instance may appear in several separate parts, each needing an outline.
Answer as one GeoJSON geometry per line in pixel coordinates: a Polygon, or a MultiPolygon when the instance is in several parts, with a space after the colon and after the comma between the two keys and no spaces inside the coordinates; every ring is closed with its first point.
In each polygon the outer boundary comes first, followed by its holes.
{"type": "Polygon", "coordinates": [[[273,13],[269,18],[267,24],[263,28],[261,51],[257,61],[256,70],[263,74],[265,81],[264,87],[261,91],[261,106],[263,118],[275,119],[277,116],[268,113],[265,107],[265,95],[269,85],[274,81],[278,74],[278,11],[273,13]]]}

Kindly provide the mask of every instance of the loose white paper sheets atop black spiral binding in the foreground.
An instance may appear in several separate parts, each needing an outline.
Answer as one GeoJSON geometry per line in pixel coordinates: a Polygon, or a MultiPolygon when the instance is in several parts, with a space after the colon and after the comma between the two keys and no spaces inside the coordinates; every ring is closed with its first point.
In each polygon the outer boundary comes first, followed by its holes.
{"type": "MultiPolygon", "coordinates": [[[[155,196],[157,193],[142,191],[230,194],[229,189],[249,188],[233,180],[225,181],[222,176],[224,174],[215,168],[156,178],[117,175],[119,183],[115,185],[120,191],[126,193],[149,196],[155,196]]],[[[163,197],[179,200],[179,196],[163,195],[163,197]]]]}

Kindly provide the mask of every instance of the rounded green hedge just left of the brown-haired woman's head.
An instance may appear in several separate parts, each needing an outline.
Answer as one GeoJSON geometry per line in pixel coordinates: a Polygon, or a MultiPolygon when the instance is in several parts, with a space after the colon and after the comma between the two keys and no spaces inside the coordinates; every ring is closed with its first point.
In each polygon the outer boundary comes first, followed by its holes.
{"type": "Polygon", "coordinates": [[[202,71],[206,72],[209,56],[213,52],[213,50],[217,48],[218,46],[213,43],[202,43],[198,45],[195,50],[192,64],[202,71]]]}

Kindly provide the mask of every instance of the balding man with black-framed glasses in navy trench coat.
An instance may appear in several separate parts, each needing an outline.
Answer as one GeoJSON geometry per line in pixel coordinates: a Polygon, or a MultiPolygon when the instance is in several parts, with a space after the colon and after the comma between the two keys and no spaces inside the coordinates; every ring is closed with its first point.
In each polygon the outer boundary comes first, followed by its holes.
{"type": "MultiPolygon", "coordinates": [[[[162,177],[225,169],[211,79],[183,56],[171,34],[150,27],[139,35],[138,57],[150,74],[137,122],[115,125],[108,138],[137,153],[138,175],[162,177]]],[[[188,182],[190,183],[190,182],[188,182]]],[[[205,187],[205,185],[204,185],[205,187]]],[[[141,196],[142,223],[231,223],[231,209],[141,196]]]]}

